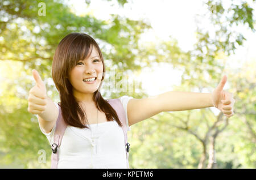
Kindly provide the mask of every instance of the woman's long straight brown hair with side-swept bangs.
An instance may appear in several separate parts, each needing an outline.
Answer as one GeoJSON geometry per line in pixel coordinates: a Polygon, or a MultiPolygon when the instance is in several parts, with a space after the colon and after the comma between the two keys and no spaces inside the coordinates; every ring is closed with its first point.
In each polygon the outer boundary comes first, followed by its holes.
{"type": "MultiPolygon", "coordinates": [[[[65,123],[69,126],[88,128],[88,119],[86,113],[79,105],[79,102],[73,96],[72,85],[68,80],[69,72],[77,65],[80,59],[92,53],[90,47],[95,46],[103,63],[103,75],[99,88],[93,93],[93,101],[98,110],[106,114],[108,121],[117,121],[119,126],[118,115],[108,101],[101,96],[100,88],[105,76],[105,63],[101,50],[97,42],[85,33],[73,32],[65,36],[57,46],[52,62],[52,78],[60,93],[60,108],[65,123]]],[[[92,49],[92,48],[91,48],[92,49]]]]}

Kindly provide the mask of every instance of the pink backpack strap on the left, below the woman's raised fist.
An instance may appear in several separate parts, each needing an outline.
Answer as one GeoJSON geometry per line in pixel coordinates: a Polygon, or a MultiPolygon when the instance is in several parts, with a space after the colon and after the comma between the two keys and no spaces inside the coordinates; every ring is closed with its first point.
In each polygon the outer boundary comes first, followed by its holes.
{"type": "Polygon", "coordinates": [[[64,122],[64,119],[61,114],[61,108],[59,105],[59,116],[56,121],[56,127],[55,127],[55,132],[54,132],[54,140],[52,144],[52,158],[51,158],[51,168],[52,169],[57,169],[58,165],[58,148],[60,147],[61,140],[63,138],[65,129],[67,125],[64,122]]]}

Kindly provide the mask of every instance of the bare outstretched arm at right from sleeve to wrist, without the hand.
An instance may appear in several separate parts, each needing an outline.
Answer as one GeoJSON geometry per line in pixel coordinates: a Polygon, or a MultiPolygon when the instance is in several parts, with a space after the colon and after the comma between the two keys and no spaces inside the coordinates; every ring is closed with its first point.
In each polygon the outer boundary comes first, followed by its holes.
{"type": "Polygon", "coordinates": [[[127,117],[129,126],[161,112],[212,107],[211,93],[165,92],[157,96],[129,100],[127,117]]]}

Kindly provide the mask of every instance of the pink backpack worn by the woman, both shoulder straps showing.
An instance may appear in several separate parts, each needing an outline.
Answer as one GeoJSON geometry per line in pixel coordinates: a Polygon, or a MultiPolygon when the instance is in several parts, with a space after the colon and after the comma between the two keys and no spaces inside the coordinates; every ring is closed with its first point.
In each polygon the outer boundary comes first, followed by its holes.
{"type": "MultiPolygon", "coordinates": [[[[126,116],[125,116],[125,109],[123,109],[123,105],[121,100],[119,98],[114,98],[110,100],[106,100],[109,102],[109,104],[112,106],[112,108],[117,112],[118,118],[122,123],[122,130],[123,135],[125,136],[125,147],[126,147],[126,164],[127,168],[129,168],[129,149],[130,144],[127,142],[127,124],[126,124],[126,116]]],[[[54,139],[53,143],[51,145],[52,148],[52,156],[51,156],[51,168],[56,169],[58,164],[58,147],[61,145],[61,140],[63,138],[65,129],[67,127],[67,124],[64,122],[64,119],[61,114],[61,108],[59,106],[59,116],[56,121],[56,127],[54,132],[54,139]]]]}

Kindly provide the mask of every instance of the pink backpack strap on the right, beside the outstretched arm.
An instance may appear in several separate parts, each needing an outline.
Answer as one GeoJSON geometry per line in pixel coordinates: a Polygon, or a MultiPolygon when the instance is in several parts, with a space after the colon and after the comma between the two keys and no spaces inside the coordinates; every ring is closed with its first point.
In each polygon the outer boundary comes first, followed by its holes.
{"type": "Polygon", "coordinates": [[[126,124],[126,115],[125,115],[125,109],[123,109],[122,102],[119,98],[114,98],[107,100],[109,104],[114,108],[115,112],[117,112],[118,118],[122,123],[122,130],[123,135],[125,136],[125,147],[126,147],[126,164],[127,168],[129,168],[129,150],[130,150],[130,144],[127,142],[127,124],[126,124]]]}

